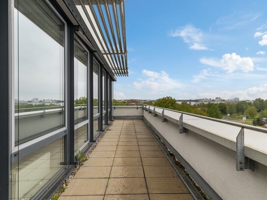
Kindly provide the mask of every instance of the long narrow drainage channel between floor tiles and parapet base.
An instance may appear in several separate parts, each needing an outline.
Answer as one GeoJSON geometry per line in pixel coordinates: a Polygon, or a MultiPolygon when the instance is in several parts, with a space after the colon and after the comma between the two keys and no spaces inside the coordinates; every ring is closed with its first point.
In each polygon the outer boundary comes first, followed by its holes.
{"type": "Polygon", "coordinates": [[[163,153],[165,154],[165,156],[167,157],[169,162],[172,164],[172,166],[174,167],[175,171],[178,173],[180,179],[185,184],[185,186],[187,187],[187,189],[189,190],[189,192],[191,193],[193,198],[195,200],[208,200],[208,198],[204,198],[203,197],[203,195],[195,187],[194,183],[189,178],[189,176],[186,175],[185,172],[177,165],[177,158],[173,155],[173,153],[170,150],[167,150],[169,148],[161,141],[161,139],[157,136],[157,134],[152,129],[152,127],[144,119],[143,119],[143,122],[148,127],[148,129],[149,129],[150,133],[152,134],[153,138],[155,139],[156,143],[159,145],[159,147],[161,148],[161,150],[163,151],[163,153]]]}

